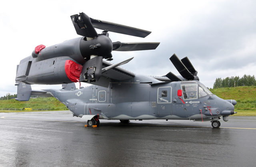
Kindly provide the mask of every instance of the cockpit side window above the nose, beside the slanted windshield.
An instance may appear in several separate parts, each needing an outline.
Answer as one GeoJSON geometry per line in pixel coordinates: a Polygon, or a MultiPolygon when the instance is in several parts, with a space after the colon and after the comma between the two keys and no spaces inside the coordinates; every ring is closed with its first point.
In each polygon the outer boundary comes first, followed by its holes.
{"type": "Polygon", "coordinates": [[[186,99],[197,99],[197,84],[184,84],[181,85],[183,98],[186,99]]]}

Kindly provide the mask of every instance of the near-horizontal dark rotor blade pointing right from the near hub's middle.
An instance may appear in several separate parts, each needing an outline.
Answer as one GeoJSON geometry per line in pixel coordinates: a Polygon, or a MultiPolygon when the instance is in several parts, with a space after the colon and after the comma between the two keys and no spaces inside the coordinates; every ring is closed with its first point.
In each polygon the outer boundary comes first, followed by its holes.
{"type": "Polygon", "coordinates": [[[113,43],[113,50],[115,51],[137,51],[137,50],[154,50],[158,47],[160,42],[128,42],[121,43],[119,48],[115,48],[114,45],[117,42],[113,43]]]}

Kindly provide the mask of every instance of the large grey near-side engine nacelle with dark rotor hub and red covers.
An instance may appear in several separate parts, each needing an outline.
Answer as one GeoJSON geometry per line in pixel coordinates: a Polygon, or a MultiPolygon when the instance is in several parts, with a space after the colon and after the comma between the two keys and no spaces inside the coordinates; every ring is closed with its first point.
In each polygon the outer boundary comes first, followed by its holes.
{"type": "Polygon", "coordinates": [[[102,58],[110,58],[112,47],[111,40],[105,35],[91,40],[85,37],[75,38],[46,48],[39,45],[31,56],[20,61],[15,80],[28,84],[50,85],[78,82],[82,65],[86,61],[88,63],[85,64],[84,70],[88,72],[84,72],[84,80],[98,80],[101,76],[102,58]],[[100,57],[94,58],[97,61],[90,63],[92,55],[100,57]],[[94,69],[93,72],[90,72],[91,68],[94,69]]]}

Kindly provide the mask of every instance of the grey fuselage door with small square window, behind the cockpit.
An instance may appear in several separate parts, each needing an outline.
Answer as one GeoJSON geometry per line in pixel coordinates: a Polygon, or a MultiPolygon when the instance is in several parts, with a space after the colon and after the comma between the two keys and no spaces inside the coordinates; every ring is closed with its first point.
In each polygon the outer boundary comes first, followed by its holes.
{"type": "Polygon", "coordinates": [[[159,117],[172,115],[172,87],[158,87],[156,103],[159,117]]]}

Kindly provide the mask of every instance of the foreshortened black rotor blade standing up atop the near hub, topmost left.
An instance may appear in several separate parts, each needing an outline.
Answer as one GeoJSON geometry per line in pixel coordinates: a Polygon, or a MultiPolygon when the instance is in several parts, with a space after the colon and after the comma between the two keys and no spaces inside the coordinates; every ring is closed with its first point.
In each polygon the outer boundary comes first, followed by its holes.
{"type": "Polygon", "coordinates": [[[86,14],[79,13],[70,16],[74,27],[76,29],[76,33],[80,36],[85,36],[85,37],[97,37],[98,33],[96,32],[96,30],[94,29],[94,27],[92,26],[92,22],[89,18],[89,16],[87,16],[86,14]]]}

